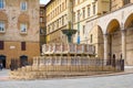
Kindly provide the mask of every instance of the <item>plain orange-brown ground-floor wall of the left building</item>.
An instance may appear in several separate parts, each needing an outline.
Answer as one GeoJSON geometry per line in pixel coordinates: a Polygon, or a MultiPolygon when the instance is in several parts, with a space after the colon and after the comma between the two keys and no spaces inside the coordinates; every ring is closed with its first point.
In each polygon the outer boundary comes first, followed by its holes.
{"type": "Polygon", "coordinates": [[[7,68],[10,67],[11,58],[20,59],[20,56],[28,56],[28,61],[32,61],[32,57],[38,56],[40,46],[38,42],[25,42],[27,51],[21,51],[21,42],[4,42],[4,50],[0,51],[1,55],[7,56],[7,68]]]}

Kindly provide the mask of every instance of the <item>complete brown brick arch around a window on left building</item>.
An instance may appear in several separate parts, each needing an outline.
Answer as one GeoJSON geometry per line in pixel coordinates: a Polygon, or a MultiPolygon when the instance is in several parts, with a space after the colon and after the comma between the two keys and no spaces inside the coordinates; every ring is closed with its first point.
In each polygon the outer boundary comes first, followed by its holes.
{"type": "Polygon", "coordinates": [[[27,23],[28,24],[28,29],[30,26],[30,19],[29,15],[25,13],[21,13],[18,18],[18,29],[20,29],[20,23],[27,23]]]}

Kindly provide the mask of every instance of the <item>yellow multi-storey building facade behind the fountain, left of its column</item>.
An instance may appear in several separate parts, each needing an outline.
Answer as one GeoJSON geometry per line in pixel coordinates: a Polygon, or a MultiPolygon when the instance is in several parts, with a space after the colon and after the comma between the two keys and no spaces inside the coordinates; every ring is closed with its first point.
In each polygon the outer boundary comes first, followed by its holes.
{"type": "Polygon", "coordinates": [[[66,1],[51,0],[47,6],[47,43],[62,42],[61,30],[66,28],[66,1]]]}

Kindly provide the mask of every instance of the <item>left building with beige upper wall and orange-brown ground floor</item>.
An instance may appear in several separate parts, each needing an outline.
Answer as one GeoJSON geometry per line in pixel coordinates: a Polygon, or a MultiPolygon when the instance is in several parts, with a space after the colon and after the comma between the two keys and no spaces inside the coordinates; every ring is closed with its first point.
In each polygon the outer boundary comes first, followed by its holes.
{"type": "Polygon", "coordinates": [[[0,0],[0,59],[21,64],[40,54],[39,0],[0,0]]]}

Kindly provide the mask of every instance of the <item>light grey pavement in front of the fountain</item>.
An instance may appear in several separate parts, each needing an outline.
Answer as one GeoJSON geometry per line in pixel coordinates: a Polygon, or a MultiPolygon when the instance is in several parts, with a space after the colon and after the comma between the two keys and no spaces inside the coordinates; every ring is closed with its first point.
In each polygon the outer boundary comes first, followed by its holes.
{"type": "MultiPolygon", "coordinates": [[[[0,72],[0,77],[8,70],[0,72]]],[[[133,74],[49,80],[0,80],[0,88],[133,88],[133,74]]]]}

